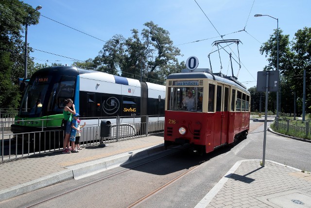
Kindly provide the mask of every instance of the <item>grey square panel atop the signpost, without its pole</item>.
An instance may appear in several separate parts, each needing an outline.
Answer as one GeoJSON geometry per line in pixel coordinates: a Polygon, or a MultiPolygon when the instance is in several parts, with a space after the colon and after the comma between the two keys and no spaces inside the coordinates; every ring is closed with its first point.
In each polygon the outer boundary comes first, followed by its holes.
{"type": "Polygon", "coordinates": [[[257,92],[266,92],[268,87],[268,92],[277,92],[279,84],[279,71],[259,71],[257,72],[257,92]],[[267,86],[267,73],[268,77],[268,86],[267,86]]]}

